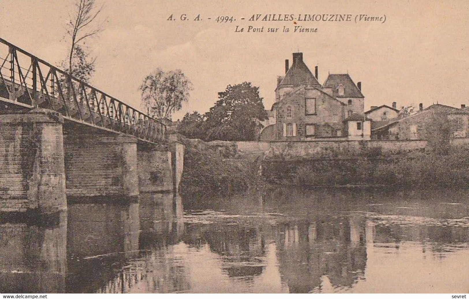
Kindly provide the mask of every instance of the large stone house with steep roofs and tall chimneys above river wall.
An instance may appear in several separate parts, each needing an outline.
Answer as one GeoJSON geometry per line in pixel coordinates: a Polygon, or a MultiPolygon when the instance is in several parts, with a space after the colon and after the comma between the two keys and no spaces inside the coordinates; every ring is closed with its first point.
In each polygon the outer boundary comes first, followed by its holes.
{"type": "Polygon", "coordinates": [[[370,139],[371,120],[363,114],[364,97],[348,74],[329,74],[324,84],[293,53],[285,76],[277,77],[272,118],[260,135],[262,141],[363,140],[370,139]],[[272,123],[273,122],[273,123],[272,123]]]}

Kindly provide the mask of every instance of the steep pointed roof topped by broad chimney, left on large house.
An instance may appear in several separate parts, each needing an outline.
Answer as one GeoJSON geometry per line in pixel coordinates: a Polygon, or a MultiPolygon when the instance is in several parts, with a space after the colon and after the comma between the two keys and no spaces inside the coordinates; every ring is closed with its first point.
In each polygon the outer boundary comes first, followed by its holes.
{"type": "Polygon", "coordinates": [[[321,86],[310,69],[304,64],[303,53],[293,53],[292,66],[278,84],[278,86],[281,85],[293,85],[294,87],[300,85],[321,86]]]}

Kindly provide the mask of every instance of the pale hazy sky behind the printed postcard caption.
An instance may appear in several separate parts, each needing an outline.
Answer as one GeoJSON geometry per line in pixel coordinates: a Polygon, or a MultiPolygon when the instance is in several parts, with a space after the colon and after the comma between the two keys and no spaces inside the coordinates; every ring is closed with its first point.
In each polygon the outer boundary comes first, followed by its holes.
{"type": "MultiPolygon", "coordinates": [[[[74,0],[2,0],[0,37],[58,65],[67,56],[65,24],[74,0]]],[[[96,57],[91,84],[139,107],[138,87],[156,67],[181,69],[193,84],[186,112],[206,112],[218,92],[244,81],[258,86],[266,109],[275,98],[285,59],[303,52],[319,82],[348,73],[362,82],[365,110],[374,105],[433,103],[469,106],[469,1],[162,1],[97,0],[104,30],[87,41],[96,57]],[[167,21],[187,14],[196,21],[167,21]],[[302,22],[316,33],[235,32],[235,26],[288,27],[249,22],[254,14],[386,15],[386,22],[302,22]],[[217,23],[218,15],[234,16],[217,23]],[[206,18],[211,17],[212,20],[206,18]],[[246,20],[241,21],[240,18],[246,20]]]]}

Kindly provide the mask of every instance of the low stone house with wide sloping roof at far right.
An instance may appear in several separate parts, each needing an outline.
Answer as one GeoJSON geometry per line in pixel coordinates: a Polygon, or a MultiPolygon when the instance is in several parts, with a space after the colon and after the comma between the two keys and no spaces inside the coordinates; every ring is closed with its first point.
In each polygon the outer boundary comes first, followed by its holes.
{"type": "MultiPolygon", "coordinates": [[[[422,106],[421,106],[422,107],[422,106]]],[[[426,140],[430,134],[439,134],[443,121],[448,125],[452,138],[467,137],[469,113],[451,106],[435,104],[421,109],[414,115],[391,121],[371,129],[371,139],[426,140]]]]}

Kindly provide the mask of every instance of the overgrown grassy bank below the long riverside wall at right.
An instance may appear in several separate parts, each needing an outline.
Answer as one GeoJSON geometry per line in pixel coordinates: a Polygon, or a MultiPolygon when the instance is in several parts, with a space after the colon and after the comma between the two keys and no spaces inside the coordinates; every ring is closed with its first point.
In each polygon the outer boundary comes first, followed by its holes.
{"type": "Polygon", "coordinates": [[[285,185],[467,187],[469,152],[413,152],[388,157],[263,162],[267,181],[285,185]]]}

